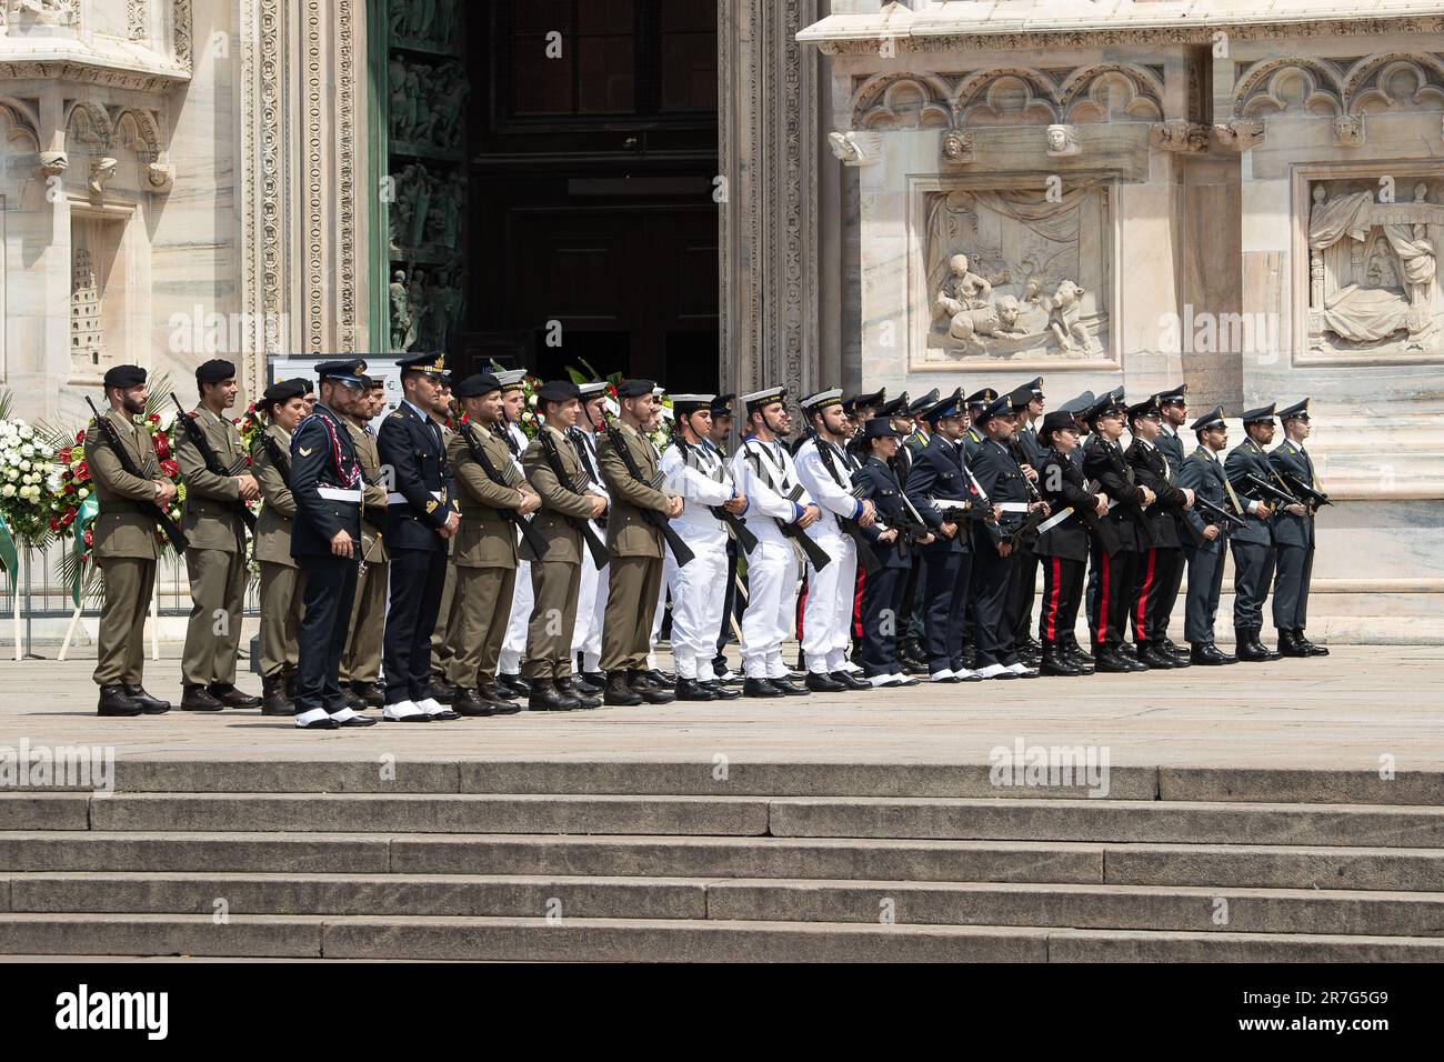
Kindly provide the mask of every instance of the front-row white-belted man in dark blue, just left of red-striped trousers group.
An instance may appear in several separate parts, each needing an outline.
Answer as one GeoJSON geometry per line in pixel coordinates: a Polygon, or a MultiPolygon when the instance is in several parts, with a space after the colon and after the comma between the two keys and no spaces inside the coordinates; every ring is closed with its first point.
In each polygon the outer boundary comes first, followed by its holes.
{"type": "Polygon", "coordinates": [[[975,524],[978,532],[973,539],[973,579],[978,582],[973,643],[978,675],[985,679],[1031,679],[1038,675],[1014,652],[1018,617],[1009,611],[1009,603],[1017,601],[1012,584],[1018,578],[1014,533],[1027,522],[1030,510],[1043,506],[1043,501],[1032,501],[1027,477],[1011,449],[1018,415],[1031,399],[1032,392],[1027,389],[1009,392],[973,420],[983,444],[970,462],[972,471],[988,504],[1001,510],[998,520],[975,524]]]}

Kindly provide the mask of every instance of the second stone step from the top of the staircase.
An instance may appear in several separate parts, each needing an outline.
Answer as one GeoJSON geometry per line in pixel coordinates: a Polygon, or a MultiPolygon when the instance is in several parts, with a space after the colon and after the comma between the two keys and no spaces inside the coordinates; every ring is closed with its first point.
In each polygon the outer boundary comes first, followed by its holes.
{"type": "MultiPolygon", "coordinates": [[[[1027,790],[1015,790],[1027,792],[1027,790]]],[[[30,793],[0,826],[98,831],[658,834],[1444,847],[1444,808],[1203,800],[425,793],[30,793]],[[87,808],[78,806],[88,800],[87,808]],[[64,811],[64,813],[61,813],[64,811]]]]}

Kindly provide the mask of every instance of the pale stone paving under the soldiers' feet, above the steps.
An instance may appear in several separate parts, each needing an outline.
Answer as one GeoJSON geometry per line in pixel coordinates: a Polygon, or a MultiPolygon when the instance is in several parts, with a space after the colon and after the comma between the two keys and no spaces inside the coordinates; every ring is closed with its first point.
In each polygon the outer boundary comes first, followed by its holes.
{"type": "MultiPolygon", "coordinates": [[[[775,701],[671,704],[300,733],[256,711],[103,720],[88,660],[0,662],[0,748],[114,746],[117,757],[988,763],[991,748],[1106,746],[1113,764],[1444,770],[1444,647],[775,701]]],[[[663,662],[667,666],[667,662],[663,662]]],[[[244,668],[244,662],[243,662],[244,668]]],[[[254,675],[240,685],[258,692],[254,675]]],[[[150,692],[179,701],[179,660],[150,692]]]]}

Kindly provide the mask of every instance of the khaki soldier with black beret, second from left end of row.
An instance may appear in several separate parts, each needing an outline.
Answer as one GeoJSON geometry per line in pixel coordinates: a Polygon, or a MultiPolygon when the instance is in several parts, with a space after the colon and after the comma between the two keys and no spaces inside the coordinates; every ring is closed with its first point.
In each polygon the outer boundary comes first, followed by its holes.
{"type": "Polygon", "coordinates": [[[245,455],[225,415],[235,405],[235,366],[219,358],[206,361],[195,370],[195,381],[201,402],[188,416],[227,471],[212,472],[189,431],[178,425],[176,462],[186,488],[180,527],[191,539],[185,565],[192,598],[180,659],[180,709],[256,708],[260,698],[235,688],[235,650],[247,579],[245,523],[238,510],[260,497],[260,487],[254,475],[240,471],[245,455]]]}

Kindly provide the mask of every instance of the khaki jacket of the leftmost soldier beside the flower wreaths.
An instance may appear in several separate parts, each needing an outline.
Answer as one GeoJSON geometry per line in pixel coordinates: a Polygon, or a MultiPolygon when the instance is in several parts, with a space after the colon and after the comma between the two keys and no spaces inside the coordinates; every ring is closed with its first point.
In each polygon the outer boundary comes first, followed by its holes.
{"type": "Polygon", "coordinates": [[[120,441],[140,475],[131,475],[120,467],[120,458],[105,442],[101,429],[92,422],[85,431],[85,467],[90,468],[100,514],[94,524],[94,552],[97,558],[131,556],[155,559],[160,556],[156,542],[156,522],[139,511],[137,501],[155,501],[155,481],[163,478],[160,461],[156,459],[150,432],[130,418],[116,410],[104,416],[116,425],[120,441]]]}

